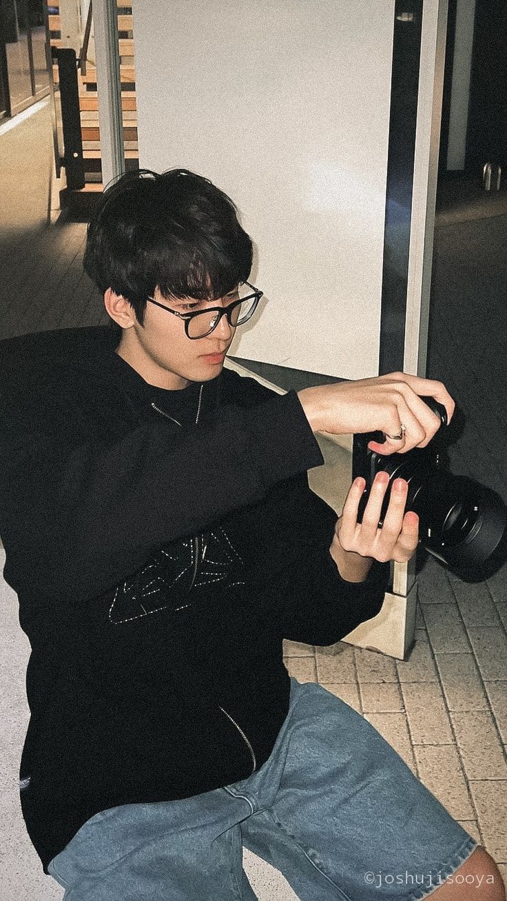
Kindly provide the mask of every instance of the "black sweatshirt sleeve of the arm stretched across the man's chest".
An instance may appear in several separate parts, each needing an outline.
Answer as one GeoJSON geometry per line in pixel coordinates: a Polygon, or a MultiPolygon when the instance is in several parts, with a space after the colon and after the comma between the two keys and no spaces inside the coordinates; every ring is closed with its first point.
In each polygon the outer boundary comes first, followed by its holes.
{"type": "Polygon", "coordinates": [[[41,415],[37,423],[13,411],[0,432],[5,578],[18,593],[72,602],[323,462],[294,392],[223,406],[213,423],[177,436],[163,417],[102,444],[62,439],[41,415]]]}

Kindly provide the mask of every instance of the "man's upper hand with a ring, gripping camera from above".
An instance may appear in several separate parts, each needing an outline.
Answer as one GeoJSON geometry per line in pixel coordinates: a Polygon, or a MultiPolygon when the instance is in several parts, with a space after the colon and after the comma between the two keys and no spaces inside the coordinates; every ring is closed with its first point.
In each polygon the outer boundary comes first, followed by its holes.
{"type": "Polygon", "coordinates": [[[312,432],[335,435],[384,432],[386,436],[403,433],[401,439],[386,437],[385,444],[369,442],[372,451],[385,455],[426,447],[439,430],[439,416],[421,396],[434,397],[443,404],[450,421],[455,405],[447,388],[441,382],[404,372],[303,388],[298,392],[312,432]]]}

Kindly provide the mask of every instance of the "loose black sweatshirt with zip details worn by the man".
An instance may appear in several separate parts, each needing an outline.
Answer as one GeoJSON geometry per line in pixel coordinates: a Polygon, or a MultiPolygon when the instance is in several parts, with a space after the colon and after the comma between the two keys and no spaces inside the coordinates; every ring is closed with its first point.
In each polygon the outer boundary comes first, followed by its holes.
{"type": "Polygon", "coordinates": [[[0,345],[0,534],[32,646],[21,799],[44,869],[101,810],[258,769],[288,709],[283,638],[339,641],[388,571],[340,578],[294,392],[227,369],[164,391],[113,348],[103,329],[0,345]]]}

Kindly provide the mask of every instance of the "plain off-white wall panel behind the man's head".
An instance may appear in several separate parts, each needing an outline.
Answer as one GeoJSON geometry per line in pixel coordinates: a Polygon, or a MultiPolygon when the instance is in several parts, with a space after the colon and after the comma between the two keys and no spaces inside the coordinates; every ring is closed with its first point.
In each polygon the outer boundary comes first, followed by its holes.
{"type": "Polygon", "coordinates": [[[140,165],[210,177],[268,302],[232,352],[376,375],[393,0],[134,0],[140,165]]]}

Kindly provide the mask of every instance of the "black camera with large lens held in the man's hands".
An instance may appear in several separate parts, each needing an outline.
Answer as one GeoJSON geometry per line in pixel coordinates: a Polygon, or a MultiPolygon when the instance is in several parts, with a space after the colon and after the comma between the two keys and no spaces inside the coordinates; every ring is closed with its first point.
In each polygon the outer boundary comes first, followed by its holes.
{"type": "MultiPolygon", "coordinates": [[[[486,578],[507,560],[507,508],[491,488],[449,471],[446,409],[433,397],[422,400],[441,421],[427,447],[385,457],[367,447],[369,441],[385,441],[382,432],[355,436],[353,475],[367,482],[359,522],[377,472],[387,472],[390,485],[394,478],[404,478],[409,486],[406,509],[419,515],[424,548],[463,578],[486,578]]],[[[380,525],[389,494],[388,489],[380,525]]]]}

